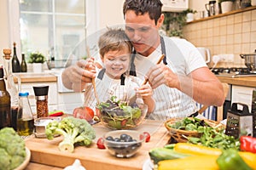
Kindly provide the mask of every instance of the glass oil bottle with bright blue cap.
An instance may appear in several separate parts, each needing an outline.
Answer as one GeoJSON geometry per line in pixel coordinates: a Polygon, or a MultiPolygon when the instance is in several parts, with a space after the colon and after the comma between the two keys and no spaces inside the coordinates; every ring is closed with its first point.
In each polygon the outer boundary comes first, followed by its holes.
{"type": "Polygon", "coordinates": [[[19,109],[17,114],[17,133],[20,136],[31,135],[34,131],[34,119],[28,100],[28,92],[19,93],[19,109]]]}

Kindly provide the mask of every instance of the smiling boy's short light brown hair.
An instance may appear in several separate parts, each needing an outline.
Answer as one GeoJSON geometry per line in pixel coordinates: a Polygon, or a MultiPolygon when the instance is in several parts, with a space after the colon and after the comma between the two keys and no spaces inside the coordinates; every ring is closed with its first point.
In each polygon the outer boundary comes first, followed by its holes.
{"type": "Polygon", "coordinates": [[[124,48],[128,48],[130,54],[132,51],[131,41],[120,28],[108,28],[108,31],[99,38],[98,46],[102,58],[108,51],[119,51],[124,48]]]}

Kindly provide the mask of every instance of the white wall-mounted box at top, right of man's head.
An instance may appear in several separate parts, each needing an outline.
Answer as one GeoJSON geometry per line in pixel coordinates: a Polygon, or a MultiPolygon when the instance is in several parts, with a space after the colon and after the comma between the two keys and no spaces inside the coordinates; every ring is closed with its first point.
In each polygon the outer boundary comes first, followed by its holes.
{"type": "Polygon", "coordinates": [[[161,0],[163,12],[182,12],[189,8],[189,0],[161,0]]]}

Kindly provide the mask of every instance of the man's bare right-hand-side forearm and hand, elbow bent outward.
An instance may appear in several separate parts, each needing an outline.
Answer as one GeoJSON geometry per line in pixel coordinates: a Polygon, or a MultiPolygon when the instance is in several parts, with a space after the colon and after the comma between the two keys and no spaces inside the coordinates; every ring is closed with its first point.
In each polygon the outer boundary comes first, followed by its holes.
{"type": "Polygon", "coordinates": [[[152,88],[166,84],[203,105],[220,106],[224,103],[223,86],[207,67],[195,69],[190,75],[185,76],[177,75],[166,65],[161,64],[151,67],[146,76],[152,88]]]}

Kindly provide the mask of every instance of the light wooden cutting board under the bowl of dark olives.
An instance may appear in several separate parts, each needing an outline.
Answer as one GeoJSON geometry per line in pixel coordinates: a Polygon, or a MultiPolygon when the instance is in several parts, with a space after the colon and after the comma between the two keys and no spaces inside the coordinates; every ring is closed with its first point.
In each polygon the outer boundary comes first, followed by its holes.
{"type": "Polygon", "coordinates": [[[93,127],[96,130],[94,143],[88,148],[83,146],[76,147],[73,153],[58,150],[58,144],[62,137],[57,137],[53,140],[37,139],[34,137],[26,139],[26,147],[29,148],[32,153],[31,163],[26,167],[26,170],[58,170],[72,165],[75,159],[79,159],[86,170],[139,170],[143,168],[143,163],[149,159],[148,151],[154,147],[164,146],[170,138],[163,122],[147,120],[134,130],[139,132],[147,131],[150,133],[150,141],[144,143],[135,156],[131,158],[117,158],[111,156],[108,150],[100,150],[96,147],[96,140],[110,130],[103,127],[101,123],[93,125],[93,127]]]}

